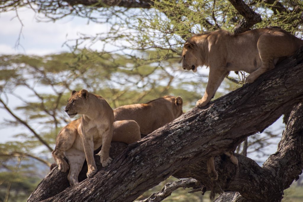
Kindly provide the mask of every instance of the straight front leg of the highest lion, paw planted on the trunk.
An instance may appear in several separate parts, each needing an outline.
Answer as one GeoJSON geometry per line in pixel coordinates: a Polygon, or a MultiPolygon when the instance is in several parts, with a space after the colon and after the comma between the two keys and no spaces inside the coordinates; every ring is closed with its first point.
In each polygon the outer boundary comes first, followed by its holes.
{"type": "Polygon", "coordinates": [[[197,107],[204,107],[211,101],[227,73],[228,71],[224,69],[210,68],[206,90],[203,98],[197,101],[197,107]]]}

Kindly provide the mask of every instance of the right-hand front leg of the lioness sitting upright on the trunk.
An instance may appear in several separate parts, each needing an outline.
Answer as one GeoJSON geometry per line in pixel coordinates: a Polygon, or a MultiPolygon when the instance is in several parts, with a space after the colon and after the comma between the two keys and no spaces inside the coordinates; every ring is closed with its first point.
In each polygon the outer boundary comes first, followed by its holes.
{"type": "Polygon", "coordinates": [[[108,164],[112,162],[112,158],[109,157],[109,148],[111,146],[112,135],[113,135],[113,126],[109,131],[106,131],[102,135],[102,147],[101,147],[101,151],[97,155],[100,156],[100,161],[103,167],[108,166],[108,164]]]}

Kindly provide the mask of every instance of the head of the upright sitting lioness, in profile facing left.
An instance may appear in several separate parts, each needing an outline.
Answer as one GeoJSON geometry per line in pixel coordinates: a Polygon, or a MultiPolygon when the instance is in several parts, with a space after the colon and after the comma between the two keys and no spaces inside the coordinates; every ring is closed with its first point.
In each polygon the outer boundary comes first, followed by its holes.
{"type": "Polygon", "coordinates": [[[64,111],[70,118],[73,118],[77,114],[85,114],[88,111],[89,104],[87,99],[89,98],[87,90],[72,91],[71,97],[68,99],[68,103],[64,111]]]}

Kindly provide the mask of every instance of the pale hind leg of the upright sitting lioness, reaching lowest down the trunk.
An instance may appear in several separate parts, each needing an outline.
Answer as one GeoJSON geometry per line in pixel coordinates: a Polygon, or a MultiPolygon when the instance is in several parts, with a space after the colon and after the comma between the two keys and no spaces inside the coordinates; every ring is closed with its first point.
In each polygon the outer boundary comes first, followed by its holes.
{"type": "Polygon", "coordinates": [[[69,172],[67,179],[71,186],[78,184],[78,176],[83,167],[85,161],[85,153],[83,151],[79,151],[77,149],[69,149],[64,152],[64,155],[68,159],[69,163],[69,172]]]}

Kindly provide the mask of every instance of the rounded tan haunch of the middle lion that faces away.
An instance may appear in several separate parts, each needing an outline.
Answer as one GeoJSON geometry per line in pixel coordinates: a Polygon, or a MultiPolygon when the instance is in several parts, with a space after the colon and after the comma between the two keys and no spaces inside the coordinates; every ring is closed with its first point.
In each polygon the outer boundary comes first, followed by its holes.
{"type": "Polygon", "coordinates": [[[140,140],[140,127],[136,121],[124,120],[114,122],[112,142],[125,142],[131,144],[140,140]]]}

